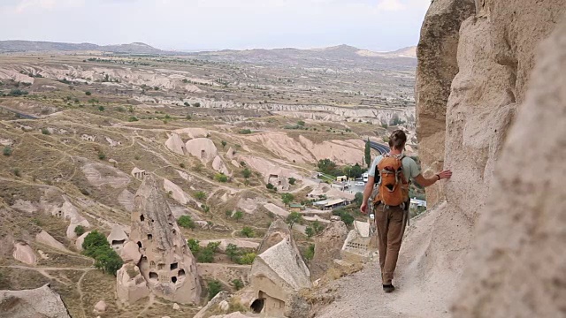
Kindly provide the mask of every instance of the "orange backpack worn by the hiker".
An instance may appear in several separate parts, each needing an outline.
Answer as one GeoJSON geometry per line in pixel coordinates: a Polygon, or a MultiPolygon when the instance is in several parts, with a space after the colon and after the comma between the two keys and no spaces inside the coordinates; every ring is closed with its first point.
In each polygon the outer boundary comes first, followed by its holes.
{"type": "Polygon", "coordinates": [[[382,203],[386,206],[400,206],[409,201],[409,182],[403,175],[402,160],[405,156],[383,155],[376,169],[381,181],[379,193],[373,200],[374,205],[382,203]]]}

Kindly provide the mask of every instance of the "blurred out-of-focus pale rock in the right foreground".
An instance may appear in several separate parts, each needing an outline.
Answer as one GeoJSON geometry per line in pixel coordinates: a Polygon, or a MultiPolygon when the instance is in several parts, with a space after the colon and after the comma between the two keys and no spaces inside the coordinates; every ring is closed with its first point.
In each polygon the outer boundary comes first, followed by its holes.
{"type": "MultiPolygon", "coordinates": [[[[566,255],[562,253],[566,242],[562,185],[566,176],[566,2],[524,6],[512,1],[485,12],[494,18],[513,12],[516,22],[509,29],[523,31],[519,37],[523,41],[511,47],[519,60],[532,54],[540,35],[555,31],[538,50],[529,90],[517,98],[524,102],[496,165],[475,249],[454,303],[455,317],[561,317],[566,313],[566,255]],[[562,24],[555,27],[553,17],[558,16],[562,24]],[[524,151],[524,145],[530,145],[529,151],[524,151]]],[[[528,71],[526,67],[518,73],[528,71]]]]}

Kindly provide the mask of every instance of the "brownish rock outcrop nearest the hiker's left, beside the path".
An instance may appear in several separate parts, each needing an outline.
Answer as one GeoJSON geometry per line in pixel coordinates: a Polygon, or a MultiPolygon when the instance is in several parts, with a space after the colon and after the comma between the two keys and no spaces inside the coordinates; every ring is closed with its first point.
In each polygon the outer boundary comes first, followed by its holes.
{"type": "Polygon", "coordinates": [[[341,221],[330,223],[315,238],[315,255],[310,261],[310,274],[313,280],[325,275],[332,267],[334,259],[340,259],[340,251],[348,236],[348,228],[341,221]]]}

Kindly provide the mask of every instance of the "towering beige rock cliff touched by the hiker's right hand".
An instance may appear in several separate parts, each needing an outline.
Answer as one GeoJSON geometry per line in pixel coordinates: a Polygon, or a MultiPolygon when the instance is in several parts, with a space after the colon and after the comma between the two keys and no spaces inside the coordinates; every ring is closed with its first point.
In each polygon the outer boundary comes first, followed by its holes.
{"type": "Polygon", "coordinates": [[[425,169],[455,173],[442,195],[428,192],[432,203],[446,202],[404,243],[402,257],[411,261],[400,276],[418,288],[396,303],[409,304],[418,289],[448,303],[468,267],[455,316],[562,316],[566,259],[551,251],[566,241],[558,208],[566,176],[566,30],[556,27],[566,1],[471,3],[435,0],[421,33],[419,155],[425,169]],[[473,240],[478,248],[469,257],[473,240]]]}

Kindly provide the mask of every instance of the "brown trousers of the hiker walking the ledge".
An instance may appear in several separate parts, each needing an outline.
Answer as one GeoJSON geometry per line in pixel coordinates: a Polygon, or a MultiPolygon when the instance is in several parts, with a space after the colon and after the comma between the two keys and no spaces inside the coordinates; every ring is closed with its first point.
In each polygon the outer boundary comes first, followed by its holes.
{"type": "Polygon", "coordinates": [[[374,213],[378,228],[381,280],[383,284],[391,284],[405,232],[406,217],[409,216],[400,207],[386,208],[384,205],[376,207],[374,213]]]}

